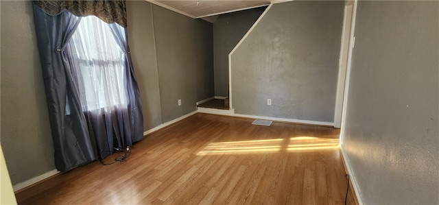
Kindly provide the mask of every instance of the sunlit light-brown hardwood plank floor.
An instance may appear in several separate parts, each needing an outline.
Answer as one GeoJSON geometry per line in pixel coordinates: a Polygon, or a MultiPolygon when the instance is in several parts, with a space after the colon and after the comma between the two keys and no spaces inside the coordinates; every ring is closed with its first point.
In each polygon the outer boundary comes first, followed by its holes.
{"type": "MultiPolygon", "coordinates": [[[[19,191],[16,199],[19,204],[344,204],[339,130],[251,123],[194,114],[145,136],[125,162],[78,167],[19,191]]],[[[354,204],[349,195],[348,204],[354,204]]]]}

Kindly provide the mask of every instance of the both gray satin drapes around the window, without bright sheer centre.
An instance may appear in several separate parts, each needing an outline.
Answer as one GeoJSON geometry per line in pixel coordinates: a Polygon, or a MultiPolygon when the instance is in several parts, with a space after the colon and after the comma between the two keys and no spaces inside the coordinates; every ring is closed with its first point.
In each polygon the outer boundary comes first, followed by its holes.
{"type": "Polygon", "coordinates": [[[121,149],[140,141],[143,138],[143,114],[139,86],[126,43],[126,29],[114,32],[114,35],[119,36],[119,46],[126,51],[128,109],[115,109],[105,114],[82,110],[78,79],[69,55],[64,52],[81,18],[67,10],[52,16],[35,3],[33,5],[56,168],[69,171],[97,158],[105,158],[112,154],[113,148],[121,149]]]}

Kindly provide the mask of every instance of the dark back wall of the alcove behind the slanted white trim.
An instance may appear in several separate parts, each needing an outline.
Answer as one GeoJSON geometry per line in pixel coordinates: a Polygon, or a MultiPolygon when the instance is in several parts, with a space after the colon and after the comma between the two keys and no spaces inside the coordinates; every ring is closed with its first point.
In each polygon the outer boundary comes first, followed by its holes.
{"type": "Polygon", "coordinates": [[[235,48],[265,8],[222,14],[213,23],[215,96],[228,97],[228,53],[235,48]]]}

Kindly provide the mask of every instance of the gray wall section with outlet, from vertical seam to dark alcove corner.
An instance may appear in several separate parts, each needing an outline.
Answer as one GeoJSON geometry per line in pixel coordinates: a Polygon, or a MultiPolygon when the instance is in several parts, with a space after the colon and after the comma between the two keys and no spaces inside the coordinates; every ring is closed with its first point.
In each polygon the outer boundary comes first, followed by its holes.
{"type": "Polygon", "coordinates": [[[167,122],[195,111],[198,100],[213,97],[212,79],[204,79],[213,71],[212,24],[157,5],[152,10],[162,119],[167,122]],[[207,53],[195,55],[202,52],[207,53]]]}

